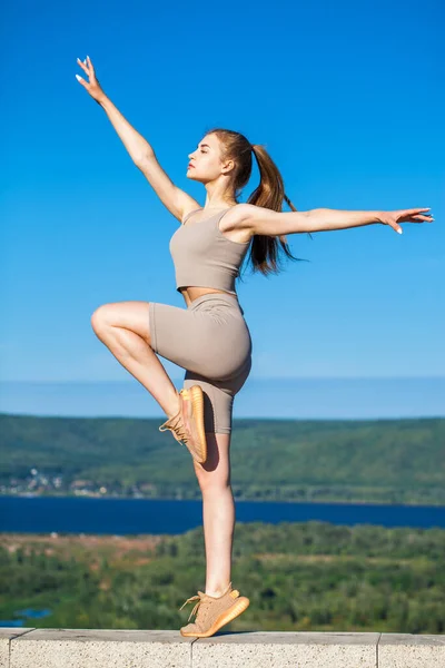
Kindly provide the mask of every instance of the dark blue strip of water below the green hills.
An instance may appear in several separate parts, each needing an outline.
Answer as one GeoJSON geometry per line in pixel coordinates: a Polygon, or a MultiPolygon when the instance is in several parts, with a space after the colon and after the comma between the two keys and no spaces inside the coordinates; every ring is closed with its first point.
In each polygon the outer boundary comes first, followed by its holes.
{"type": "MultiPolygon", "coordinates": [[[[445,528],[445,507],[237,501],[238,522],[305,522],[445,528]]],[[[91,497],[0,497],[0,531],[18,533],[182,533],[202,524],[201,501],[91,497]]]]}

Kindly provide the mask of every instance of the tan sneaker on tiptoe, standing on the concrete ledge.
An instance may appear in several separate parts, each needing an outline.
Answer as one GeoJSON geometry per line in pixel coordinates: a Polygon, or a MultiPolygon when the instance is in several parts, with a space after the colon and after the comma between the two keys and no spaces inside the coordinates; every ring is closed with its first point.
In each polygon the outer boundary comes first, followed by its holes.
{"type": "Polygon", "coordinates": [[[190,612],[188,620],[196,612],[195,622],[188,623],[180,629],[181,636],[192,636],[194,638],[208,638],[216,633],[222,626],[238,617],[249,607],[249,599],[245,596],[239,596],[237,589],[231,589],[229,582],[227,589],[221,596],[212,597],[202,591],[198,591],[198,596],[192,596],[187,599],[179,608],[191,601],[198,601],[190,612]]]}

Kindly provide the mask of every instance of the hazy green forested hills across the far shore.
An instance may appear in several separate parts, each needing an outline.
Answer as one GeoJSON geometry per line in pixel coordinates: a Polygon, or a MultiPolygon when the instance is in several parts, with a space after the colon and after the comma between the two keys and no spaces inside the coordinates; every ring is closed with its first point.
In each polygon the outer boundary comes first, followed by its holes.
{"type": "MultiPolygon", "coordinates": [[[[2,492],[199,498],[161,422],[0,414],[2,492]]],[[[230,453],[238,499],[445,504],[445,419],[236,419],[230,453]]]]}

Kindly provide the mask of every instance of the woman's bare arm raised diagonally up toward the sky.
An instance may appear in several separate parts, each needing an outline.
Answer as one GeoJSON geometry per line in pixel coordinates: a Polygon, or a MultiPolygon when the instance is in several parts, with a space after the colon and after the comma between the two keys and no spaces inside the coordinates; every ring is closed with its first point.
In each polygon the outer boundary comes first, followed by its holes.
{"type": "Polygon", "coordinates": [[[77,61],[89,77],[89,81],[86,81],[76,75],[78,81],[88,90],[98,105],[102,107],[132,161],[152,186],[162,204],[178,220],[182,220],[188,212],[199,207],[199,203],[175,186],[159,165],[150,144],[128,122],[103,92],[89,56],[87,56],[86,62],[82,62],[79,58],[77,61]]]}

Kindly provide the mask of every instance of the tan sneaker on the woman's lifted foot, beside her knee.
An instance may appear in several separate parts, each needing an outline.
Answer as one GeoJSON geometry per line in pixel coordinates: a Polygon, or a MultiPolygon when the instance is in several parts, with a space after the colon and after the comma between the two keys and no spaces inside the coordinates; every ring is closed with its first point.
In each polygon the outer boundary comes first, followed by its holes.
{"type": "Polygon", "coordinates": [[[179,411],[161,424],[159,431],[170,430],[179,443],[184,441],[194,460],[202,464],[207,459],[202,387],[182,387],[179,399],[179,411]]]}

